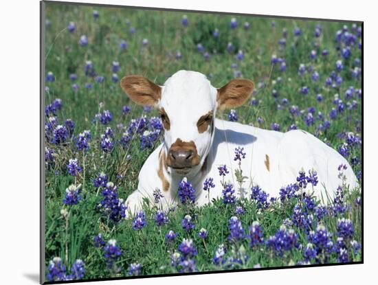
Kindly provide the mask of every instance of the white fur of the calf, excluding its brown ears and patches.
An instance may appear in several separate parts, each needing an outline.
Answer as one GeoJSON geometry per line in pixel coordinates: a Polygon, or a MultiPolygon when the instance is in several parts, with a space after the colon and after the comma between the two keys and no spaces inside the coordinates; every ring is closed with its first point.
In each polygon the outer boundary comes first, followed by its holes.
{"type": "MultiPolygon", "coordinates": [[[[238,192],[239,186],[234,176],[234,170],[238,168],[237,161],[234,161],[234,148],[238,146],[243,147],[247,154],[241,161],[241,168],[243,175],[248,177],[242,185],[248,196],[252,185],[259,185],[270,197],[279,196],[280,187],[295,183],[300,170],[308,172],[313,169],[318,172],[319,179],[314,192],[327,203],[326,197],[333,198],[341,183],[337,166],[342,163],[348,167],[344,170],[346,183],[351,188],[358,186],[348,161],[303,130],[280,133],[215,119],[214,132],[208,128],[200,134],[196,125],[199,117],[208,111],[213,111],[215,117],[216,92],[203,74],[194,71],[178,71],[166,81],[158,106],[164,107],[170,119],[170,130],[165,131],[164,142],[153,151],[140,170],[137,190],[126,201],[131,212],[140,209],[143,197],[154,203],[155,188],[163,189],[157,175],[159,152],[163,150],[166,154],[177,138],[194,141],[201,157],[199,166],[185,175],[196,189],[196,204],[199,206],[208,203],[208,192],[203,191],[203,181],[208,177],[212,177],[216,185],[210,190],[210,199],[222,195],[218,171],[221,165],[225,164],[230,170],[225,179],[233,183],[238,192]],[[269,157],[269,170],[265,166],[266,155],[269,157]],[[201,169],[206,157],[206,168],[201,169]]],[[[168,170],[164,168],[164,176],[170,183],[167,192],[162,190],[164,198],[161,205],[166,208],[178,203],[178,185],[184,176],[169,167],[168,170]]]]}

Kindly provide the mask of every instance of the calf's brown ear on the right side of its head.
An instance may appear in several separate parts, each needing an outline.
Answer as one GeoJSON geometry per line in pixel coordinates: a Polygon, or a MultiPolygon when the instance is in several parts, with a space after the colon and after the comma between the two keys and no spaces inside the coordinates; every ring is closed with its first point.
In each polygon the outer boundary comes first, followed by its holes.
{"type": "Polygon", "coordinates": [[[254,82],[247,79],[233,79],[217,90],[216,102],[219,110],[236,108],[247,101],[254,90],[254,82]]]}

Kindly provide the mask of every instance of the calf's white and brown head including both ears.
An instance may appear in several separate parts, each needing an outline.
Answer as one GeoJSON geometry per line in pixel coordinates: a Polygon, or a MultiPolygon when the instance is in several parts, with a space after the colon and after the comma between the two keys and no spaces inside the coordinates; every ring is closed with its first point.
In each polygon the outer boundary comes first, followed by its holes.
{"type": "Polygon", "coordinates": [[[159,110],[166,165],[174,173],[190,175],[197,174],[208,155],[216,111],[241,106],[254,84],[234,79],[216,89],[202,73],[181,70],[163,86],[143,76],[126,76],[121,87],[135,103],[159,110]]]}

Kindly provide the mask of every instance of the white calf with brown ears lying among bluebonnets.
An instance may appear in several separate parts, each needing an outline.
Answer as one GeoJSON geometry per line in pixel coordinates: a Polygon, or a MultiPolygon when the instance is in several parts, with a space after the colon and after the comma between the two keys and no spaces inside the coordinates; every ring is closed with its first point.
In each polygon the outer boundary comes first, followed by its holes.
{"type": "Polygon", "coordinates": [[[131,212],[141,208],[144,197],[153,203],[156,188],[164,195],[159,201],[162,207],[177,204],[178,186],[184,177],[196,190],[196,204],[208,203],[222,195],[217,178],[218,167],[223,165],[230,170],[226,181],[238,187],[234,175],[239,167],[234,161],[234,148],[238,146],[246,152],[241,168],[248,178],[241,185],[241,193],[259,185],[269,196],[278,196],[280,187],[295,182],[300,170],[315,170],[319,183],[313,190],[326,200],[341,183],[340,164],[347,166],[346,184],[358,185],[348,161],[310,133],[280,133],[216,119],[217,111],[241,106],[249,98],[254,89],[251,80],[234,79],[216,89],[203,74],[181,70],[164,86],[142,76],[126,76],[121,87],[137,104],[155,106],[164,126],[163,143],[142,166],[137,190],[126,201],[131,212]],[[203,182],[208,177],[214,178],[216,187],[205,192],[203,182]]]}

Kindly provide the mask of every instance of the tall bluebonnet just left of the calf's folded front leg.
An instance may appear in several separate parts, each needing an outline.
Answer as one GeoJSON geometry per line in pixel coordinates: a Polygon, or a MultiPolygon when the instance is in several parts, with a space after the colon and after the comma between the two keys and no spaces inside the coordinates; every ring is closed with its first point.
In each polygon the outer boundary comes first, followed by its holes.
{"type": "Polygon", "coordinates": [[[117,186],[108,182],[102,189],[102,201],[100,209],[107,214],[113,222],[118,223],[122,218],[126,218],[126,205],[124,201],[118,198],[117,186]]]}

